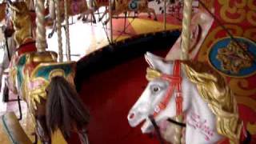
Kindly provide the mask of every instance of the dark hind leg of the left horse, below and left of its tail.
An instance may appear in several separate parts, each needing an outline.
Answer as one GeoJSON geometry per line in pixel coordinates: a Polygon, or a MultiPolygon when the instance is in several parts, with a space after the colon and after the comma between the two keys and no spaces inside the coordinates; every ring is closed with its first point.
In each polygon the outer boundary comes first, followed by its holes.
{"type": "Polygon", "coordinates": [[[51,143],[50,134],[46,126],[46,116],[40,115],[36,117],[36,133],[38,134],[38,137],[42,143],[51,143]]]}

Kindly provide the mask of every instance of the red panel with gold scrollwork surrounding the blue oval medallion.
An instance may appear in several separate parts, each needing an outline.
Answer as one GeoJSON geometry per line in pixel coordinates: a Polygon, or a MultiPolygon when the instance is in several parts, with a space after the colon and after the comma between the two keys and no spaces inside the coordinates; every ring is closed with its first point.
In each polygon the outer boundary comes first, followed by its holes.
{"type": "MultiPolygon", "coordinates": [[[[214,2],[215,15],[234,36],[256,41],[256,1],[254,0],[218,0],[214,2]]],[[[208,51],[214,41],[228,36],[221,26],[214,23],[210,33],[198,52],[197,59],[205,62],[208,51]]],[[[256,75],[247,78],[230,78],[224,75],[233,90],[239,105],[240,117],[247,130],[256,134],[256,75]]]]}

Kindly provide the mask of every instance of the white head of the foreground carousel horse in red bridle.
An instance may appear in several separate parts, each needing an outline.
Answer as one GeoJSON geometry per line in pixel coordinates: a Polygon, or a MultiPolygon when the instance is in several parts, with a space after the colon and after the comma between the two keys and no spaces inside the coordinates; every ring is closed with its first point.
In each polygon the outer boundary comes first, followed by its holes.
{"type": "MultiPolygon", "coordinates": [[[[166,91],[170,86],[170,82],[164,80],[164,78],[160,78],[160,75],[172,74],[174,62],[164,62],[163,58],[150,53],[145,54],[145,58],[146,62],[148,62],[150,65],[150,68],[146,70],[146,78],[150,80],[150,82],[146,86],[146,89],[142,93],[141,97],[131,108],[128,114],[128,121],[130,126],[138,126],[139,123],[146,120],[142,126],[142,133],[149,133],[154,128],[149,119],[150,115],[155,115],[154,118],[156,122],[162,122],[167,118],[174,118],[176,114],[174,111],[176,105],[174,96],[168,100],[168,105],[166,106],[165,110],[161,111],[161,114],[156,113],[156,111],[158,111],[158,104],[162,101],[162,99],[164,99],[166,91]],[[154,76],[159,76],[159,78],[153,78],[154,76]]],[[[184,87],[186,84],[187,83],[184,83],[182,87],[184,87]]],[[[189,100],[190,99],[187,99],[182,103],[183,111],[188,109],[189,100]]]]}

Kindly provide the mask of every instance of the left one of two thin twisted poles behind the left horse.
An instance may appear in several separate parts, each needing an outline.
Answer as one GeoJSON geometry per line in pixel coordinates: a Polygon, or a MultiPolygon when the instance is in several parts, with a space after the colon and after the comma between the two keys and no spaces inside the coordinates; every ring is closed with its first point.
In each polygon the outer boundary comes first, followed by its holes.
{"type": "Polygon", "coordinates": [[[62,50],[62,23],[61,23],[61,14],[59,9],[59,0],[54,0],[55,2],[55,15],[57,22],[57,35],[58,35],[58,60],[63,62],[63,50],[62,50]]]}

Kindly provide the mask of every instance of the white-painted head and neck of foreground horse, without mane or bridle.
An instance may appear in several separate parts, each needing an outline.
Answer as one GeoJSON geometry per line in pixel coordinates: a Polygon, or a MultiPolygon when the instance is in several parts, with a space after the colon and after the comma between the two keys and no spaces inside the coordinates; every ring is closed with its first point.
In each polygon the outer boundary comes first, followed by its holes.
{"type": "MultiPolygon", "coordinates": [[[[159,70],[162,74],[172,74],[174,62],[164,62],[162,58],[153,54],[146,54],[146,61],[154,70],[159,70]]],[[[186,78],[182,72],[182,112],[186,122],[186,143],[216,143],[223,137],[216,129],[216,116],[210,110],[207,103],[198,94],[197,86],[186,78]]],[[[138,126],[146,120],[142,126],[142,133],[149,133],[153,125],[148,118],[154,114],[154,109],[166,94],[169,82],[160,78],[150,81],[142,96],[134,104],[128,114],[130,126],[138,126]]],[[[176,115],[175,92],[170,98],[166,109],[162,110],[155,121],[160,127],[160,131],[166,129],[167,118],[174,118],[176,115]]]]}

